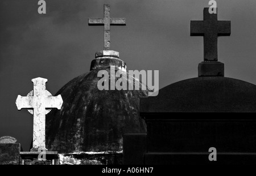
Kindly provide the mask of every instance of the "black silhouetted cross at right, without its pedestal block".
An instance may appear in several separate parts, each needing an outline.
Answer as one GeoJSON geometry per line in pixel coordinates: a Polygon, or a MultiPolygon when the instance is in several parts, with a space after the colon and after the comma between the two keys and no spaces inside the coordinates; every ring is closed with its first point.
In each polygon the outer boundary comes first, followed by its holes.
{"type": "MultiPolygon", "coordinates": [[[[216,10],[217,11],[217,10],[216,10]]],[[[191,21],[191,36],[204,36],[204,61],[218,61],[218,36],[230,36],[231,22],[218,21],[217,13],[204,8],[203,21],[191,21]]]]}

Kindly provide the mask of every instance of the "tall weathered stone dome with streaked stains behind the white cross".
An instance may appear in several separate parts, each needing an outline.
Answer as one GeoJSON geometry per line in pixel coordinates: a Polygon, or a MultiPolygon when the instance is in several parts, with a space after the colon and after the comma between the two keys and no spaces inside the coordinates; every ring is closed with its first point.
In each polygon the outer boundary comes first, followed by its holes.
{"type": "Polygon", "coordinates": [[[49,151],[122,151],[125,132],[146,132],[146,124],[139,117],[139,97],[147,96],[147,91],[100,91],[98,71],[78,76],[56,93],[64,102],[61,110],[53,110],[46,117],[49,151]]]}

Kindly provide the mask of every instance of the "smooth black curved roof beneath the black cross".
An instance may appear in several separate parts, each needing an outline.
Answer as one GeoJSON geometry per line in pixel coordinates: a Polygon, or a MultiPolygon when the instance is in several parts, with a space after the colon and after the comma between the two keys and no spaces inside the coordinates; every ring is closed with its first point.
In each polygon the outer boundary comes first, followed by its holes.
{"type": "Polygon", "coordinates": [[[141,98],[141,114],[153,112],[255,112],[256,85],[221,76],[199,77],[141,98]]]}

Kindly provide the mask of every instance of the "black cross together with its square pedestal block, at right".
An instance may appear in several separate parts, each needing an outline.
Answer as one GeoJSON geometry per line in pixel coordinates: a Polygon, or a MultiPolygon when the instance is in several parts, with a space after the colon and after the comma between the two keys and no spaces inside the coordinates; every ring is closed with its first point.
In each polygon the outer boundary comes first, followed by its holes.
{"type": "Polygon", "coordinates": [[[199,76],[224,76],[224,64],[218,62],[217,38],[230,36],[230,33],[231,22],[218,21],[217,13],[210,14],[209,8],[204,8],[203,21],[191,21],[191,36],[204,37],[204,63],[212,63],[212,65],[199,65],[199,76]]]}

